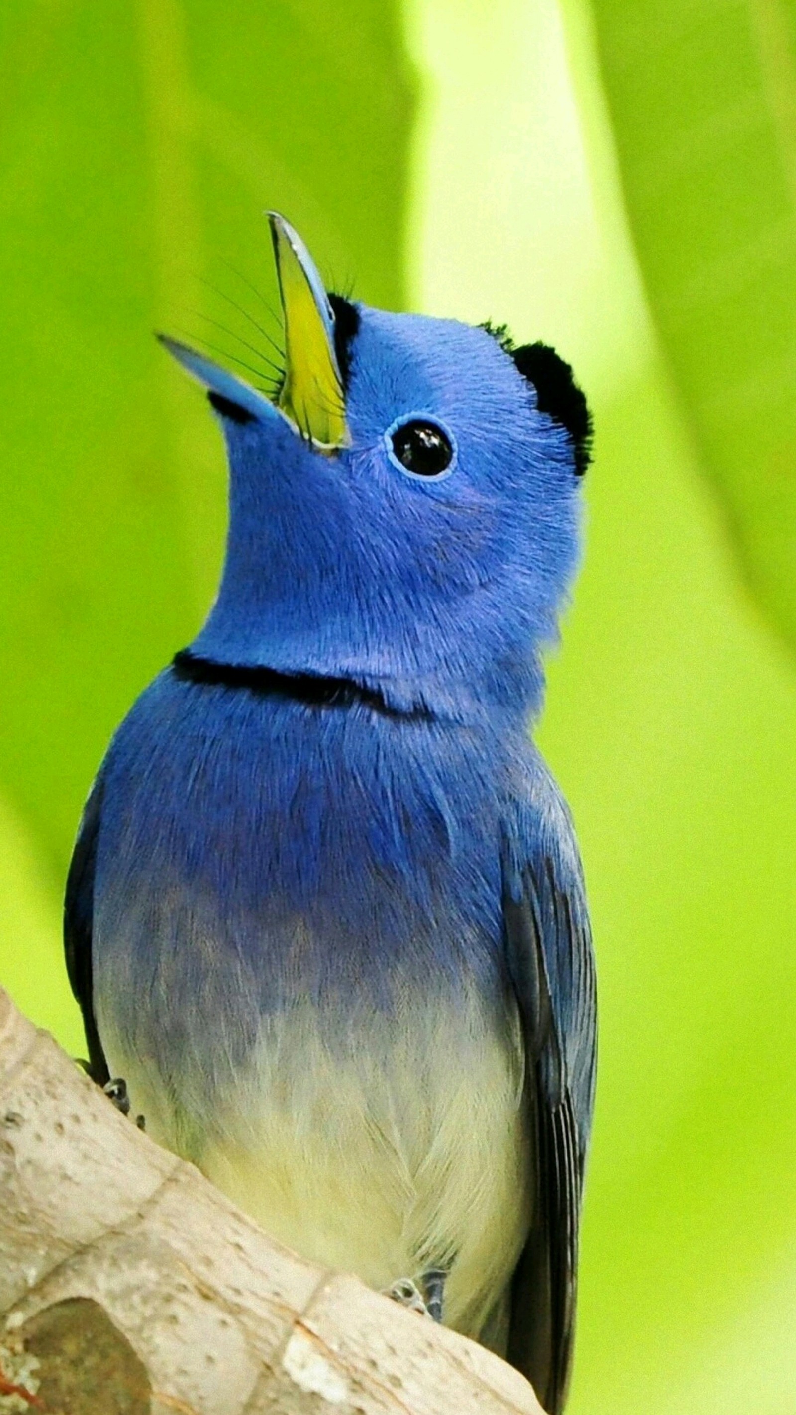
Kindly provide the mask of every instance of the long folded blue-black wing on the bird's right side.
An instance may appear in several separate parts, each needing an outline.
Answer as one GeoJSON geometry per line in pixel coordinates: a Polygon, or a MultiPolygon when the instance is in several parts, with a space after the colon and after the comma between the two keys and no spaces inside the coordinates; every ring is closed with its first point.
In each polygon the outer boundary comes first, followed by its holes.
{"type": "Polygon", "coordinates": [[[550,777],[537,778],[519,816],[506,842],[503,921],[534,1114],[536,1193],[512,1285],[508,1356],[558,1415],[573,1351],[597,988],[580,857],[550,777]]]}

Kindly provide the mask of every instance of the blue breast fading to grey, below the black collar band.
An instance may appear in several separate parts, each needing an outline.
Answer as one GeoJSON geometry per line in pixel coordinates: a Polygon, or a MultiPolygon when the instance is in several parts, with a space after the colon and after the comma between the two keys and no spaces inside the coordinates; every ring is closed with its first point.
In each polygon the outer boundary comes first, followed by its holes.
{"type": "Polygon", "coordinates": [[[534,758],[501,736],[161,674],[103,767],[95,989],[123,1050],[170,1078],[189,1047],[211,1109],[298,999],[331,1044],[417,982],[502,1009],[502,819],[534,758]]]}

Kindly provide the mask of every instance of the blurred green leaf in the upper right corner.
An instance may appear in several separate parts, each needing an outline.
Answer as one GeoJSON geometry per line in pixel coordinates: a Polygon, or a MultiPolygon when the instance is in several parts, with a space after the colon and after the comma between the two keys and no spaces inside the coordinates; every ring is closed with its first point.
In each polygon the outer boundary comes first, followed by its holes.
{"type": "Polygon", "coordinates": [[[594,16],[666,359],[747,580],[796,647],[796,8],[594,16]]]}

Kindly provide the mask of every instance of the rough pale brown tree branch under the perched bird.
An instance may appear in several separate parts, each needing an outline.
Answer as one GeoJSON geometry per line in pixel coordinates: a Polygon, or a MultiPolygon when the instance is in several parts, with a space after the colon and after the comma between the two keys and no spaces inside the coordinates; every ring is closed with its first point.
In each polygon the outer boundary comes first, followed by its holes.
{"type": "Polygon", "coordinates": [[[0,1411],[542,1415],[496,1356],[266,1237],[0,990],[0,1411]]]}

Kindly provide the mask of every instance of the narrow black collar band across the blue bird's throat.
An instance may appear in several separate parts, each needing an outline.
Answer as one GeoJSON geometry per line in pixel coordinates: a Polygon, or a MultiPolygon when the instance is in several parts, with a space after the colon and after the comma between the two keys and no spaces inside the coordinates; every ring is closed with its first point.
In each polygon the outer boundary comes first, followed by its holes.
{"type": "Polygon", "coordinates": [[[353,678],[327,678],[324,674],[283,674],[277,668],[253,668],[242,664],[216,664],[201,658],[189,648],[174,655],[171,668],[177,678],[191,683],[215,683],[223,688],[247,688],[269,698],[291,698],[311,708],[353,708],[361,705],[383,717],[404,722],[433,722],[434,713],[426,703],[396,708],[377,688],[365,688],[353,678]]]}

